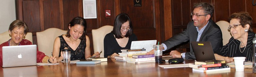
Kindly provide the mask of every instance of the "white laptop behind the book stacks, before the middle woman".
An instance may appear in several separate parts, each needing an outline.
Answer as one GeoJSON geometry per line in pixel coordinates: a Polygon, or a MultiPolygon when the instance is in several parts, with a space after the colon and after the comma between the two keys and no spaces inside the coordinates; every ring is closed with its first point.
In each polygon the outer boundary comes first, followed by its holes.
{"type": "Polygon", "coordinates": [[[131,49],[146,49],[146,51],[151,51],[153,45],[156,45],[156,40],[132,41],[131,49]]]}

